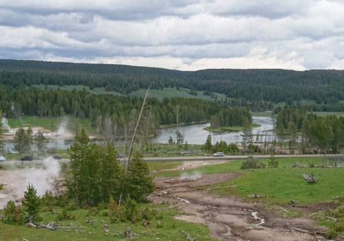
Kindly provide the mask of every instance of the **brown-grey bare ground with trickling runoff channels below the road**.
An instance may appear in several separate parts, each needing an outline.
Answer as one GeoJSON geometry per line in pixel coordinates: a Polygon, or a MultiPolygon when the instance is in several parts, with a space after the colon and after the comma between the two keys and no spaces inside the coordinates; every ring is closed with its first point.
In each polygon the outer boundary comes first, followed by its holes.
{"type": "Polygon", "coordinates": [[[254,202],[244,202],[234,197],[224,198],[197,190],[197,187],[223,182],[239,175],[210,174],[193,177],[195,180],[155,178],[158,188],[151,200],[176,205],[186,214],[175,218],[205,224],[211,235],[219,240],[326,240],[325,227],[319,227],[307,216],[310,212],[327,208],[324,204],[299,207],[299,210],[305,211],[305,215],[287,219],[275,216],[254,202]]]}

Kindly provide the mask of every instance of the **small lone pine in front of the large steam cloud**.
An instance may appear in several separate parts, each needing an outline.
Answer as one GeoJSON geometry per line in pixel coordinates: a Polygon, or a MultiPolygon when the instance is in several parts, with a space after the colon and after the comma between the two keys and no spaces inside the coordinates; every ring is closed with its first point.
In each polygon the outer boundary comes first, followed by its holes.
{"type": "Polygon", "coordinates": [[[28,185],[28,189],[24,192],[24,198],[21,201],[23,209],[26,213],[26,220],[28,222],[41,222],[43,218],[39,216],[41,209],[41,200],[37,196],[37,191],[33,185],[28,185]]]}

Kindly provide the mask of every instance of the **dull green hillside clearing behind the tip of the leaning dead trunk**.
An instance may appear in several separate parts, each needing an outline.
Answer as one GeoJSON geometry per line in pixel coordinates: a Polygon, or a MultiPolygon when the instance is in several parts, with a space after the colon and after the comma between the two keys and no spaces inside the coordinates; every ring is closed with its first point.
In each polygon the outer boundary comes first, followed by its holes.
{"type": "MultiPolygon", "coordinates": [[[[211,98],[211,96],[206,96],[201,91],[197,91],[197,96],[189,94],[190,90],[185,88],[180,88],[180,90],[176,90],[176,88],[163,88],[162,90],[149,90],[149,97],[158,98],[158,100],[162,101],[163,98],[174,98],[174,97],[182,97],[182,98],[200,98],[204,101],[215,101],[215,98],[211,98]]],[[[146,89],[140,89],[135,92],[131,92],[129,95],[131,96],[142,96],[146,94],[146,89]]],[[[226,99],[226,95],[218,94],[217,100],[226,99]]]]}

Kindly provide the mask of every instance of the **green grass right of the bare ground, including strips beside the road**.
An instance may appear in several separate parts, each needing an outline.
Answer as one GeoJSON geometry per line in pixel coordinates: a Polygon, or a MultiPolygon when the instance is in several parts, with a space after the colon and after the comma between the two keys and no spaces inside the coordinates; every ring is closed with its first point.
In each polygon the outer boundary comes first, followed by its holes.
{"type": "MultiPolygon", "coordinates": [[[[267,160],[261,160],[267,163],[267,160]]],[[[217,189],[212,193],[230,196],[236,195],[247,198],[248,194],[267,196],[262,200],[277,204],[286,204],[296,200],[299,204],[331,201],[335,196],[344,196],[343,168],[293,168],[294,163],[299,165],[321,165],[322,158],[280,158],[279,168],[240,170],[241,160],[233,160],[219,165],[209,165],[188,171],[164,171],[156,176],[181,176],[192,174],[217,174],[240,171],[241,176],[222,182],[212,187],[226,187],[237,185],[236,188],[217,189]],[[302,174],[313,173],[319,182],[309,184],[302,174]]]]}

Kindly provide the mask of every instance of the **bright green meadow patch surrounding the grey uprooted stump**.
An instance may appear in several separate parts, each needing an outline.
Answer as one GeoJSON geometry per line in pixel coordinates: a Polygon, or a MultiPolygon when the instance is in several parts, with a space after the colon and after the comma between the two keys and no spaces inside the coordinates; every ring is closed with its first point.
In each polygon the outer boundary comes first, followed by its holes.
{"type": "MultiPolygon", "coordinates": [[[[338,168],[277,168],[242,171],[242,176],[229,182],[222,182],[219,187],[237,185],[235,193],[241,197],[249,194],[267,196],[264,200],[286,204],[296,200],[299,204],[327,202],[335,196],[344,194],[343,169],[338,168]],[[319,181],[306,182],[302,174],[313,172],[319,181]]],[[[215,185],[216,187],[217,185],[215,185]]],[[[218,189],[214,193],[230,195],[233,190],[218,189]]]]}

